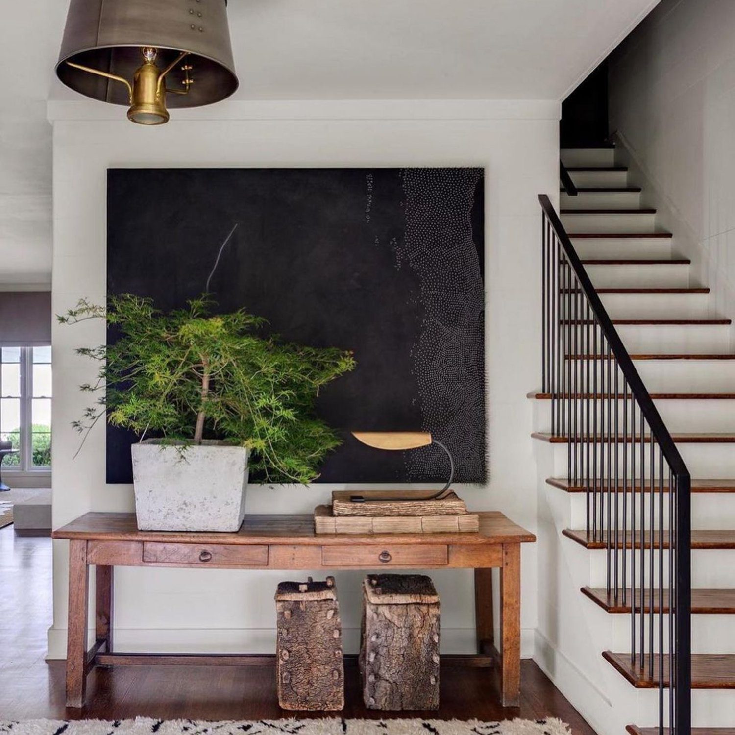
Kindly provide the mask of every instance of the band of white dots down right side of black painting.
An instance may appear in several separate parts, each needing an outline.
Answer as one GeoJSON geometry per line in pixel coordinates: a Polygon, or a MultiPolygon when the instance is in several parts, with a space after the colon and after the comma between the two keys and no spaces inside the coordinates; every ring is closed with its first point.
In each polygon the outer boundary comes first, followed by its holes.
{"type": "MultiPolygon", "coordinates": [[[[397,265],[415,270],[425,317],[412,347],[423,431],[444,443],[456,481],[486,480],[484,288],[471,212],[481,168],[406,168],[406,236],[397,265]]],[[[448,476],[437,447],[405,453],[410,481],[448,476]]]]}

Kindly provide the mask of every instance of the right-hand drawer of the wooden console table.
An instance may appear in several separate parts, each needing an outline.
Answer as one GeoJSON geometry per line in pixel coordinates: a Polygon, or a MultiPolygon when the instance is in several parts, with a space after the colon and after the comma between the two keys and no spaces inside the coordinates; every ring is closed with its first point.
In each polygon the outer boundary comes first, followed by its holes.
{"type": "Polygon", "coordinates": [[[440,567],[449,563],[442,544],[340,545],[322,550],[324,567],[440,567]]]}

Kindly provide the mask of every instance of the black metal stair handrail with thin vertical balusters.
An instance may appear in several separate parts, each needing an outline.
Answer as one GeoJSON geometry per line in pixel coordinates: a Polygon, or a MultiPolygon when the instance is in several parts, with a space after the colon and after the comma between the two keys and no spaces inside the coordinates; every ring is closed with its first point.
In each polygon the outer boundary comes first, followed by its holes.
{"type": "Polygon", "coordinates": [[[539,203],[551,431],[586,493],[587,539],[606,548],[608,600],[630,607],[631,670],[657,680],[661,735],[666,723],[690,735],[689,470],[550,199],[539,203]]]}

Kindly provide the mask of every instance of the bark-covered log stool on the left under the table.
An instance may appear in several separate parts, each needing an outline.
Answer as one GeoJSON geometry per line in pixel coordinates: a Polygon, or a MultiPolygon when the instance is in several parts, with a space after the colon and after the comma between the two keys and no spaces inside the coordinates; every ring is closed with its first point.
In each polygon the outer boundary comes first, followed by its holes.
{"type": "Polygon", "coordinates": [[[278,700],[283,709],[343,709],[345,672],[334,577],[276,591],[278,700]]]}

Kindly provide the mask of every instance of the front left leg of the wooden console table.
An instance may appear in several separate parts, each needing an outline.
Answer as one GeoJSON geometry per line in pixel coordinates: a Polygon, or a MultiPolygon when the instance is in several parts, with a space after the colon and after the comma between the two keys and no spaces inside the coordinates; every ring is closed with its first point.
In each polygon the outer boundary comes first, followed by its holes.
{"type": "Polygon", "coordinates": [[[87,542],[69,542],[69,620],[66,647],[66,706],[82,707],[87,691],[87,542]]]}

